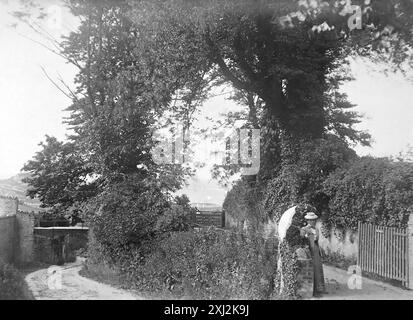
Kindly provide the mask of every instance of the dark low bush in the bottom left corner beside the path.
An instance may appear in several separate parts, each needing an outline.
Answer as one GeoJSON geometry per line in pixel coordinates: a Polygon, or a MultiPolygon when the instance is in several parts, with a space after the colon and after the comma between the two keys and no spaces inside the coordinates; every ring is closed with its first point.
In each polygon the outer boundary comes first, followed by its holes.
{"type": "Polygon", "coordinates": [[[0,300],[31,300],[23,276],[12,265],[0,261],[0,300]]]}

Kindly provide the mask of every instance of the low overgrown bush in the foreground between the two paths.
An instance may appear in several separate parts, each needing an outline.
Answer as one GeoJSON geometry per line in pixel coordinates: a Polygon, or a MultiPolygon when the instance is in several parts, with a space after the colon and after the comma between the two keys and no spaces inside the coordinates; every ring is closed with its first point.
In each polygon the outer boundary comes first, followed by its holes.
{"type": "MultiPolygon", "coordinates": [[[[148,245],[147,252],[137,247],[124,251],[112,264],[128,287],[141,292],[167,298],[267,299],[273,291],[276,254],[261,238],[202,229],[174,232],[148,245]]],[[[89,264],[102,265],[106,248],[94,250],[89,264]]]]}

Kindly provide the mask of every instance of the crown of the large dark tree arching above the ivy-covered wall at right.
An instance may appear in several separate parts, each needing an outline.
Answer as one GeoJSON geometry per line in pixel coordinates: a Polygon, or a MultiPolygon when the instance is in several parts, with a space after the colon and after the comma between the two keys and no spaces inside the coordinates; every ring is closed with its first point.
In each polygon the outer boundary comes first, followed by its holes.
{"type": "Polygon", "coordinates": [[[394,66],[409,62],[408,1],[354,2],[361,9],[361,29],[349,28],[357,11],[340,1],[130,3],[130,17],[148,41],[174,36],[164,42],[160,61],[179,53],[208,60],[202,64],[204,84],[230,86],[233,98],[249,108],[247,120],[262,131],[261,167],[268,168],[262,175],[281,163],[294,141],[333,133],[368,144],[368,134],[354,127],[359,118],[353,105],[339,91],[351,78],[345,68],[350,55],[386,57],[394,66]]]}

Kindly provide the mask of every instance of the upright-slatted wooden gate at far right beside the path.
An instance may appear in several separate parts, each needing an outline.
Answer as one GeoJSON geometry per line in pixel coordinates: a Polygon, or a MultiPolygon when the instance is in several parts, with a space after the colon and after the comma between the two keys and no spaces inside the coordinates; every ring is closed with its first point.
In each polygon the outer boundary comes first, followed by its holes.
{"type": "Polygon", "coordinates": [[[387,228],[359,222],[358,235],[358,265],[361,270],[399,280],[407,286],[407,228],[387,228]]]}

